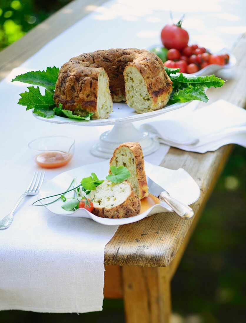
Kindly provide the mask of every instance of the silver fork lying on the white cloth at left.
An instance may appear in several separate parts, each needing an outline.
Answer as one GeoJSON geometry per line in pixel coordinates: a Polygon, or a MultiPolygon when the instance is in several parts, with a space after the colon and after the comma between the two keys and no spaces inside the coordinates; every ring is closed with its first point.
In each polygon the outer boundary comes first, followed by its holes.
{"type": "Polygon", "coordinates": [[[10,211],[9,214],[7,214],[1,221],[0,221],[0,229],[6,229],[10,226],[11,222],[13,221],[13,215],[14,212],[17,208],[17,206],[19,205],[20,201],[23,199],[23,197],[27,196],[27,195],[37,195],[39,193],[39,189],[44,181],[44,175],[45,172],[35,172],[33,175],[33,178],[28,186],[28,188],[26,189],[26,191],[21,195],[21,197],[19,198],[18,202],[16,203],[16,205],[13,207],[13,209],[10,211]]]}

